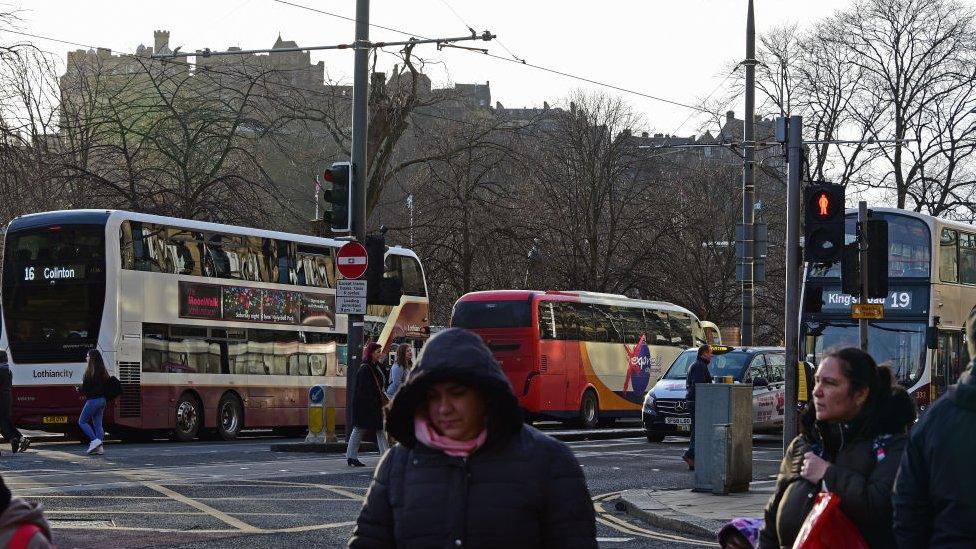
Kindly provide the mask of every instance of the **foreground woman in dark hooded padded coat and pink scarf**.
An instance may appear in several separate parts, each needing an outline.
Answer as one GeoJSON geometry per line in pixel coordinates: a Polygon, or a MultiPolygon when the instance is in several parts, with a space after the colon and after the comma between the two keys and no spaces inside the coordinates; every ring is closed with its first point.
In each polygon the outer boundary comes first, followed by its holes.
{"type": "Polygon", "coordinates": [[[349,547],[595,549],[596,519],[569,447],[522,422],[477,335],[430,338],[393,398],[386,453],[349,547]]]}

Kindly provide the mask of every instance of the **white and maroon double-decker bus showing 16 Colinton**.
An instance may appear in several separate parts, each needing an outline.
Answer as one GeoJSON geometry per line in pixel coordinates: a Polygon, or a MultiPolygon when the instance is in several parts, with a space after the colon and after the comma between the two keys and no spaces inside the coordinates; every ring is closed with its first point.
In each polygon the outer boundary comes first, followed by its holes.
{"type": "MultiPolygon", "coordinates": [[[[344,422],[346,316],[335,314],[342,241],[125,211],[26,215],[7,227],[3,332],[13,419],[73,430],[76,387],[100,350],[123,394],[105,414],[121,436],[232,439],[298,430],[308,388],[337,388],[344,422]]],[[[395,306],[370,305],[366,337],[393,350],[427,336],[423,269],[391,247],[395,306]]]]}

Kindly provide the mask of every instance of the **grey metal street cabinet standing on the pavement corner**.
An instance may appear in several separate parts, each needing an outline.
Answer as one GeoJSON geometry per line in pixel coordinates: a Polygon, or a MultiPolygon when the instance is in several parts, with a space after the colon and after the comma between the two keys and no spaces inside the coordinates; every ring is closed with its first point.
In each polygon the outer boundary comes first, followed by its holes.
{"type": "Polygon", "coordinates": [[[752,385],[695,387],[696,492],[749,491],[752,480],[752,385]]]}

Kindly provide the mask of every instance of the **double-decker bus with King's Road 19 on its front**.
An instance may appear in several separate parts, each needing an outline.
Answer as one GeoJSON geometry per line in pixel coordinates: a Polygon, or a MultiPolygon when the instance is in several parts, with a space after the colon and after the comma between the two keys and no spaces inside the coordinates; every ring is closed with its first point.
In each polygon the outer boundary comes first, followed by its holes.
{"type": "MultiPolygon", "coordinates": [[[[888,222],[888,292],[884,318],[869,321],[868,351],[924,409],[969,364],[965,322],[976,305],[976,226],[895,208],[872,208],[888,222]]],[[[845,242],[855,239],[857,210],[845,214],[845,242]]],[[[856,297],[841,289],[840,263],[811,264],[801,314],[801,354],[818,364],[832,349],[860,345],[851,318],[856,297]]]]}

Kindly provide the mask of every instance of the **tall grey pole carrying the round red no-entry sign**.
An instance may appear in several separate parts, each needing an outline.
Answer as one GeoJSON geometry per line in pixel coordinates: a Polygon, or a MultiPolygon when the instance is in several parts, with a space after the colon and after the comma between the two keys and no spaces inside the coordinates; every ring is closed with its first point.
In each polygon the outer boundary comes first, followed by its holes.
{"type": "MultiPolygon", "coordinates": [[[[352,232],[356,240],[366,239],[366,114],[369,85],[369,0],[356,0],[356,49],[352,99],[352,232]]],[[[349,315],[347,331],[346,417],[352,408],[356,373],[363,352],[363,315],[349,315]]],[[[348,423],[348,421],[347,421],[348,423]]],[[[349,426],[346,425],[346,436],[349,426]]]]}

